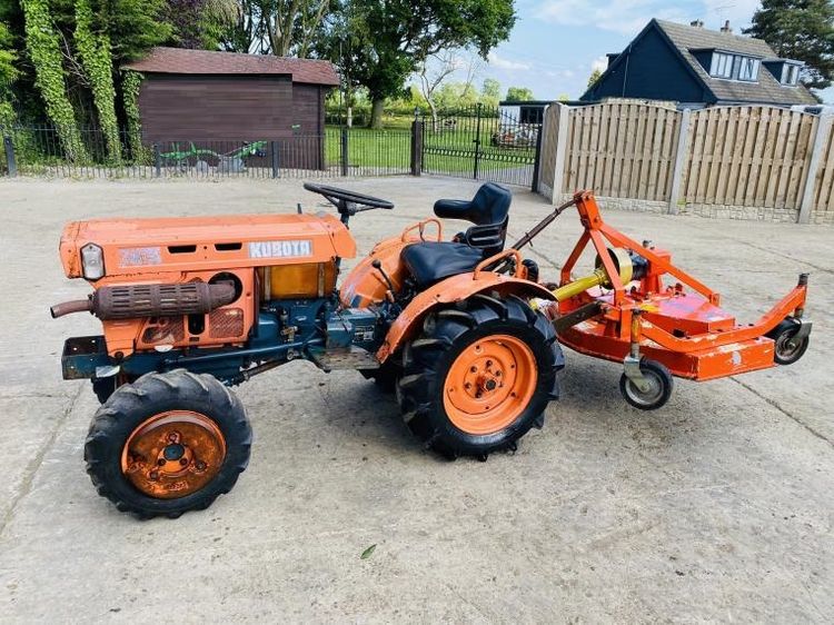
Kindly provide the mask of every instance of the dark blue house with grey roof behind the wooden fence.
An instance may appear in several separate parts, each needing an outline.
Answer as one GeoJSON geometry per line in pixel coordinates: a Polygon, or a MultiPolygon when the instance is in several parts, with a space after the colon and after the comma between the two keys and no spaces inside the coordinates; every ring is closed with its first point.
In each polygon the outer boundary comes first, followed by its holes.
{"type": "Polygon", "coordinates": [[[608,54],[608,67],[582,97],[639,98],[715,105],[815,105],[800,83],[803,63],[782,59],[761,39],[721,31],[702,21],[689,26],[652,20],[625,50],[608,54]]]}

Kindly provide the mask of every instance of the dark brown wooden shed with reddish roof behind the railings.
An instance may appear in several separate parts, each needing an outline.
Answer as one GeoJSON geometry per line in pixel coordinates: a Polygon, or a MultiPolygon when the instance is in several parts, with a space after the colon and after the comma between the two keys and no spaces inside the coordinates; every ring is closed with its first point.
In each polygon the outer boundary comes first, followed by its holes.
{"type": "Polygon", "coordinates": [[[139,113],[148,143],[221,152],[270,141],[284,167],[324,167],[325,96],[339,83],[329,61],[160,47],[122,69],[145,77],[139,113]]]}

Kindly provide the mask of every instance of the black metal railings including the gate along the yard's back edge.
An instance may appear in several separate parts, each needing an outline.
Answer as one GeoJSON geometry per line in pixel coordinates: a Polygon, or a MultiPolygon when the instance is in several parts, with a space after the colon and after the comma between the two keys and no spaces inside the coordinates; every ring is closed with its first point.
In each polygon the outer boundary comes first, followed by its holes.
{"type": "Polygon", "coordinates": [[[98,128],[0,128],[9,176],[53,178],[337,178],[421,172],[529,185],[538,127],[481,107],[375,130],[325,127],[321,133],[205,139],[107,137],[98,128]]]}

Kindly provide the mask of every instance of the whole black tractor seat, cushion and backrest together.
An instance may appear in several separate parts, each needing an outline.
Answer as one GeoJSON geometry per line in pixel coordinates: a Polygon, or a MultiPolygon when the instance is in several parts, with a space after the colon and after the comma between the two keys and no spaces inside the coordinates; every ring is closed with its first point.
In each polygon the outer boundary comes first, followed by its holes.
{"type": "Polygon", "coordinates": [[[513,194],[495,182],[481,185],[471,200],[437,200],[435,215],[465,219],[473,224],[455,241],[426,241],[407,246],[400,252],[417,286],[423,289],[438,280],[471,271],[504,249],[513,194]]]}

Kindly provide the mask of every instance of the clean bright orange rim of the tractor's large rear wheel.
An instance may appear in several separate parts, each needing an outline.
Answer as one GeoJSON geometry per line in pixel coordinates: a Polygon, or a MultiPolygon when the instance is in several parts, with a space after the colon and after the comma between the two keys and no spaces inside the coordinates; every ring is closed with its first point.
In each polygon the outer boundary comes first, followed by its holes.
{"type": "Polygon", "coordinates": [[[467,434],[500,431],[515,421],[536,390],[533,350],[509,335],[467,346],[446,375],[443,401],[451,423],[467,434]]]}

